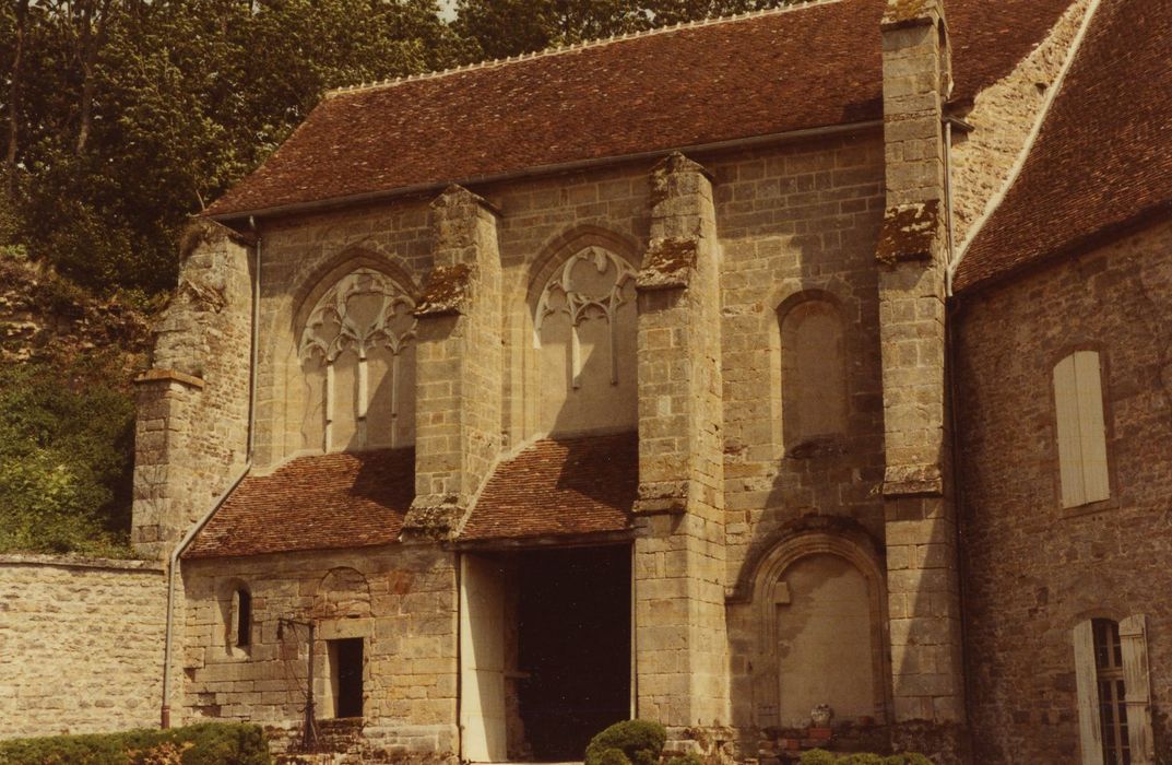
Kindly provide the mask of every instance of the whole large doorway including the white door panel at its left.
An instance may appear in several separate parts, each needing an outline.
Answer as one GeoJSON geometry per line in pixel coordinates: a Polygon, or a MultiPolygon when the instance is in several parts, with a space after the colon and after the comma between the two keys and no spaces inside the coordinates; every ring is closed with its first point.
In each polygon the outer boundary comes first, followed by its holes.
{"type": "Polygon", "coordinates": [[[632,715],[631,546],[465,554],[461,724],[472,763],[574,761],[632,715]]]}

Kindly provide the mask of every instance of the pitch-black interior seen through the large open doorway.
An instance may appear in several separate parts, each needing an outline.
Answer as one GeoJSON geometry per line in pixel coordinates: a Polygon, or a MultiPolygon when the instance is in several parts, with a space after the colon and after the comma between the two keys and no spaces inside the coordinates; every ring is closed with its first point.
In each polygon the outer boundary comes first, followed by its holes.
{"type": "Polygon", "coordinates": [[[520,717],[533,758],[580,760],[631,717],[631,548],[519,555],[520,717]]]}

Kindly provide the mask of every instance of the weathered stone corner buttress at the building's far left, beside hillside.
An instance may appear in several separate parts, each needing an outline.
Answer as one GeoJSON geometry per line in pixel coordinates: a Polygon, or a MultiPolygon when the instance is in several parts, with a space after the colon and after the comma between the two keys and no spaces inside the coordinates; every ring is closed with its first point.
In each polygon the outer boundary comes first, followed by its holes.
{"type": "Polygon", "coordinates": [[[136,381],[130,540],[142,554],[166,557],[248,459],[252,253],[210,221],[183,236],[179,286],[136,381]]]}

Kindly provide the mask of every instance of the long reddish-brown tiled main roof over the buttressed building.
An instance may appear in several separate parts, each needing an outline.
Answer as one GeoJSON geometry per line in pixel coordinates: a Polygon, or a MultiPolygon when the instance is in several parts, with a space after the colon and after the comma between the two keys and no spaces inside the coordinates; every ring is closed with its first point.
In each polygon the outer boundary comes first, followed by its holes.
{"type": "MultiPolygon", "coordinates": [[[[950,0],[955,95],[1008,74],[1069,2],[950,0]]],[[[823,0],[342,90],[209,215],[878,120],[883,8],[823,0]]]]}

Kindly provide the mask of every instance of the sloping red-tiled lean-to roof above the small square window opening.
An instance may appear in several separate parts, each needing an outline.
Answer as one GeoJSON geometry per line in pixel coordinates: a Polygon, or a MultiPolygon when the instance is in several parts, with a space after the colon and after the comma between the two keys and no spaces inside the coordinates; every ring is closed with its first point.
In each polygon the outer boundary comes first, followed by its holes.
{"type": "Polygon", "coordinates": [[[184,557],[389,544],[414,493],[414,449],[298,458],[245,478],[184,557]]]}

